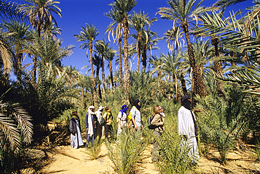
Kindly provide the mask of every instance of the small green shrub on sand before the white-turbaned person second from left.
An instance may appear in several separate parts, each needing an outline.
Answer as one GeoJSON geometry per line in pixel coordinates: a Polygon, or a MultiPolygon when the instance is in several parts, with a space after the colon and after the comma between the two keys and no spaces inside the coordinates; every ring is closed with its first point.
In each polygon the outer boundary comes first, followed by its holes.
{"type": "Polygon", "coordinates": [[[83,152],[91,156],[91,159],[98,159],[98,156],[101,152],[101,145],[103,142],[104,140],[102,140],[101,138],[96,138],[94,140],[93,145],[91,145],[91,142],[87,142],[88,147],[86,147],[86,151],[83,152]]]}

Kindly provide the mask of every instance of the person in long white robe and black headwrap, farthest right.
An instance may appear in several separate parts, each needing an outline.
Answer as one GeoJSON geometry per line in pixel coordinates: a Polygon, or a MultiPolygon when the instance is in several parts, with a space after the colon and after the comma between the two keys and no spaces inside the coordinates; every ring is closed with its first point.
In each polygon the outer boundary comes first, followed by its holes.
{"type": "Polygon", "coordinates": [[[181,108],[178,109],[178,135],[181,135],[182,142],[187,141],[190,148],[188,156],[194,162],[200,159],[197,149],[197,125],[195,114],[190,110],[190,97],[186,94],[181,97],[181,108]]]}

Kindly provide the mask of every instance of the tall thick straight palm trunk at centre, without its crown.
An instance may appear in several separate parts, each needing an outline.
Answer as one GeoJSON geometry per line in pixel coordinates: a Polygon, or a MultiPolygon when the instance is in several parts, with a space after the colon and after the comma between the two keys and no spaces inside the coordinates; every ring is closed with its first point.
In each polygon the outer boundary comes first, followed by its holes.
{"type": "Polygon", "coordinates": [[[130,100],[129,91],[130,91],[130,79],[129,79],[129,58],[128,58],[128,34],[129,27],[127,22],[127,16],[123,17],[122,20],[123,29],[124,29],[124,98],[126,101],[130,100]]]}

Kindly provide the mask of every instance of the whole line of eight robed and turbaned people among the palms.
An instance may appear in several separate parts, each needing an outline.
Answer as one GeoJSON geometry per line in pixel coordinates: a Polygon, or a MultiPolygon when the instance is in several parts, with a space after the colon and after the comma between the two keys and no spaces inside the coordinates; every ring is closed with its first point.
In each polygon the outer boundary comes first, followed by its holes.
{"type": "MultiPolygon", "coordinates": [[[[190,98],[188,95],[183,95],[181,98],[181,108],[178,110],[178,134],[181,135],[182,142],[188,142],[188,146],[190,148],[189,156],[194,156],[194,161],[197,162],[200,159],[198,149],[197,149],[197,126],[195,120],[195,114],[190,110],[190,98]]],[[[88,143],[91,142],[93,145],[93,141],[96,138],[101,138],[103,128],[101,122],[105,122],[105,138],[108,138],[108,134],[112,135],[112,112],[110,107],[105,107],[105,114],[102,116],[104,107],[100,106],[98,111],[95,112],[95,107],[90,106],[86,116],[85,116],[85,128],[86,128],[86,147],[88,143]]],[[[129,128],[130,126],[134,130],[141,130],[143,128],[143,124],[141,121],[141,102],[139,100],[134,100],[133,107],[130,110],[131,113],[131,125],[129,125],[129,116],[127,116],[127,106],[122,105],[118,116],[118,131],[117,136],[122,133],[124,127],[129,128]]],[[[164,133],[164,109],[157,105],[153,109],[153,119],[151,121],[152,125],[155,125],[156,128],[153,131],[153,135],[155,136],[155,142],[153,144],[152,149],[152,161],[158,161],[159,153],[159,140],[162,138],[162,134],[164,133]]],[[[78,148],[79,146],[83,146],[82,136],[81,136],[81,128],[79,117],[77,116],[77,110],[72,112],[72,117],[70,119],[70,133],[71,133],[71,147],[78,148]]]]}

